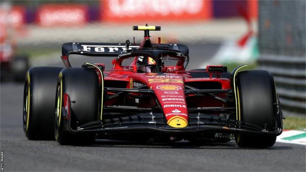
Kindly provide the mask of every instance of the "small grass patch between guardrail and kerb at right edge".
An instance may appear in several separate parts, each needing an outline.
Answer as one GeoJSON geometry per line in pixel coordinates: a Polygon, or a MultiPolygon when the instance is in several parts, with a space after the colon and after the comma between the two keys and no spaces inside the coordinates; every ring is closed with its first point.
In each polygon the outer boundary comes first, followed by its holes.
{"type": "Polygon", "coordinates": [[[304,130],[306,128],[306,117],[285,117],[282,120],[284,129],[304,130]]]}

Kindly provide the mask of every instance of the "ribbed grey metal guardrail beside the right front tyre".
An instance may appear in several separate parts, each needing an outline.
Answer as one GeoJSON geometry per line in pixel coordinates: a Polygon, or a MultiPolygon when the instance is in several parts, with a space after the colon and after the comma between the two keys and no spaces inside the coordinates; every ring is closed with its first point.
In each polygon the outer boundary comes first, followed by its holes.
{"type": "Polygon", "coordinates": [[[284,114],[305,115],[306,58],[261,55],[257,62],[259,69],[273,74],[284,114]]]}

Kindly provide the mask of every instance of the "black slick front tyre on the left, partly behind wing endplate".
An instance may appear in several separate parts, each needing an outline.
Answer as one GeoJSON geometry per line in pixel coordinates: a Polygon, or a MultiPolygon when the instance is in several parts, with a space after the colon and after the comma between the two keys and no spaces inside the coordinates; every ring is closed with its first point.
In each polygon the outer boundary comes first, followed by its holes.
{"type": "Polygon", "coordinates": [[[90,145],[96,134],[73,134],[67,129],[63,118],[64,95],[70,97],[71,122],[77,126],[98,120],[99,79],[95,71],[85,68],[68,68],[61,71],[56,89],[54,135],[61,145],[90,145]]]}

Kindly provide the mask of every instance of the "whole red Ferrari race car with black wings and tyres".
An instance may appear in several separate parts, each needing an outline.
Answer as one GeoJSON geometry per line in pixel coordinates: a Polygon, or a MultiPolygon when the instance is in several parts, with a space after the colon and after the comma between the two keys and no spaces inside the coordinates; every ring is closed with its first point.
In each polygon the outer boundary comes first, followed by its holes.
{"type": "Polygon", "coordinates": [[[186,71],[188,48],[153,44],[150,30],[141,44],[66,43],[66,68],[28,70],[24,89],[24,131],[30,140],[61,145],[95,139],[141,143],[228,142],[271,147],[282,132],[282,113],[271,74],[224,66],[186,71]],[[70,54],[116,57],[113,67],[84,63],[73,68],[70,54]],[[241,71],[241,72],[239,72],[241,71]]]}

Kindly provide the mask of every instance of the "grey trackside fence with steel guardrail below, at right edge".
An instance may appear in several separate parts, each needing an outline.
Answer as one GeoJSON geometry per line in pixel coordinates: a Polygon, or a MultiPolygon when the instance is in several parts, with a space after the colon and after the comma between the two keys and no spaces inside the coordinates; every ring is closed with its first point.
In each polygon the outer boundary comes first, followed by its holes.
{"type": "Polygon", "coordinates": [[[259,1],[259,68],[274,75],[284,115],[306,113],[306,1],[259,1]]]}

